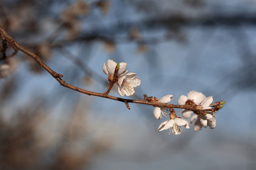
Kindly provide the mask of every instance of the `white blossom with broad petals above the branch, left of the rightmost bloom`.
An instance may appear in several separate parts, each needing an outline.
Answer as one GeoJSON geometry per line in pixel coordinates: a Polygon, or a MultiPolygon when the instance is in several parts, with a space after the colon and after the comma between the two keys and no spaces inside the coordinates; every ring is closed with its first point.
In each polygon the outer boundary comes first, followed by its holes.
{"type": "MultiPolygon", "coordinates": [[[[178,99],[178,104],[179,105],[184,105],[184,104],[189,104],[189,105],[194,105],[194,104],[200,104],[204,99],[206,98],[206,96],[203,93],[197,92],[197,91],[190,91],[188,93],[188,96],[184,96],[181,95],[178,99]]],[[[186,110],[183,109],[182,110],[182,116],[185,119],[189,119],[191,114],[192,114],[192,110],[186,110]]]]}

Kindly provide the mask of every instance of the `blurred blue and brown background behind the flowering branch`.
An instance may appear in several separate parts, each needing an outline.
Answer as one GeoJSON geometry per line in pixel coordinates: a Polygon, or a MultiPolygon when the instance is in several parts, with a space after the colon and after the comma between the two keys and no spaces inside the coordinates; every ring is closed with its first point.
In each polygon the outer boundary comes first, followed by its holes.
{"type": "Polygon", "coordinates": [[[0,60],[1,170],[255,168],[256,0],[0,0],[0,26],[86,90],[108,89],[113,59],[141,78],[125,98],[226,101],[215,129],[169,136],[154,107],[72,91],[19,51],[0,60]]]}

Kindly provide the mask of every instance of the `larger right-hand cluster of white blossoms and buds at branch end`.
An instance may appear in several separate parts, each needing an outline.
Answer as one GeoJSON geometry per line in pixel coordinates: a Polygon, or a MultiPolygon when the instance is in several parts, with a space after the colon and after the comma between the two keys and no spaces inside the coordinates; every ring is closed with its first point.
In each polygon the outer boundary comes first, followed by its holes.
{"type": "MultiPolygon", "coordinates": [[[[150,97],[148,99],[149,102],[158,103],[168,103],[171,100],[173,100],[173,95],[171,94],[165,95],[161,99],[157,99],[155,97],[150,97]]],[[[194,124],[194,130],[196,131],[200,130],[201,127],[209,126],[211,129],[216,127],[215,113],[217,112],[217,110],[223,107],[222,104],[224,104],[225,102],[212,102],[212,96],[206,97],[204,94],[197,91],[191,91],[188,93],[187,96],[182,95],[178,99],[178,105],[183,105],[185,108],[187,107],[190,109],[182,110],[182,116],[185,119],[189,119],[191,117],[191,114],[194,113],[190,122],[192,123],[193,120],[197,119],[194,124]]],[[[162,115],[166,116],[168,111],[170,111],[170,119],[160,124],[160,126],[158,127],[159,131],[168,129],[169,135],[171,134],[171,131],[174,135],[178,135],[181,134],[181,126],[184,126],[185,128],[190,128],[188,121],[177,117],[174,109],[171,107],[155,107],[155,119],[163,118],[162,115]]]]}

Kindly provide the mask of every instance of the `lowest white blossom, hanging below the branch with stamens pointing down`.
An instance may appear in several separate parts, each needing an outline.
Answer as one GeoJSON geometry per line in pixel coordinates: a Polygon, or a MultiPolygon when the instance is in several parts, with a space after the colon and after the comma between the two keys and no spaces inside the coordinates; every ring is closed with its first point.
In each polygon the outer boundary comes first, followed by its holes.
{"type": "Polygon", "coordinates": [[[179,134],[181,134],[181,128],[180,128],[181,126],[189,128],[189,123],[188,123],[188,121],[177,117],[177,118],[170,119],[170,120],[167,120],[167,121],[161,123],[160,126],[158,127],[158,130],[162,131],[162,130],[169,129],[169,135],[170,135],[171,128],[172,128],[173,134],[179,135],[179,134]]]}

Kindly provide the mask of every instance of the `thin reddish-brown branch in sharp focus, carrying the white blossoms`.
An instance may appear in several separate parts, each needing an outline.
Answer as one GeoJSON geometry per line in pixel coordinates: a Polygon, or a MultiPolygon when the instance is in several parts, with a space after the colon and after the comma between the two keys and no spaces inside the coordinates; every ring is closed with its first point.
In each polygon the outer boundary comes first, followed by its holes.
{"type": "MultiPolygon", "coordinates": [[[[60,85],[70,88],[70,89],[75,90],[80,93],[85,93],[88,95],[94,95],[94,96],[98,96],[98,97],[104,97],[104,98],[116,100],[119,102],[124,102],[128,109],[130,109],[128,103],[132,102],[132,103],[152,105],[155,107],[187,109],[187,110],[195,111],[198,114],[203,114],[204,111],[213,111],[213,112],[217,111],[215,109],[215,107],[212,109],[201,110],[201,109],[195,109],[191,105],[174,105],[174,104],[168,104],[168,103],[151,102],[152,97],[147,97],[146,94],[144,95],[144,100],[132,100],[132,99],[124,99],[124,98],[111,96],[111,95],[108,95],[108,93],[110,92],[110,90],[114,84],[114,81],[110,81],[110,88],[105,93],[97,93],[97,92],[87,91],[82,88],[76,87],[74,85],[70,85],[70,84],[66,83],[64,80],[62,80],[61,77],[63,77],[63,75],[58,74],[55,71],[53,71],[51,68],[49,68],[35,53],[28,51],[26,48],[19,45],[18,42],[16,42],[9,34],[7,34],[6,31],[1,26],[0,26],[0,39],[2,41],[7,41],[14,49],[18,49],[18,50],[22,51],[23,53],[27,54],[28,56],[32,57],[33,59],[35,59],[37,61],[37,63],[42,68],[44,68],[50,75],[52,75],[60,83],[60,85]]],[[[116,70],[116,72],[117,72],[117,70],[116,70]]],[[[116,80],[116,77],[117,76],[114,75],[113,80],[116,80]]]]}

